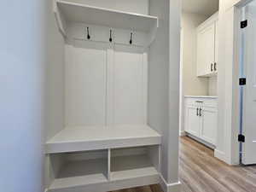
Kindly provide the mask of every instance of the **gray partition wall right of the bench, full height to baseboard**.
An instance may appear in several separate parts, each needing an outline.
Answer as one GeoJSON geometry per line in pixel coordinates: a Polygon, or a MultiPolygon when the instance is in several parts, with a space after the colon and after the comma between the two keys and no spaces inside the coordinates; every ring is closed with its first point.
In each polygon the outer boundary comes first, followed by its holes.
{"type": "Polygon", "coordinates": [[[158,15],[160,27],[148,53],[148,124],[160,131],[163,136],[161,173],[166,183],[176,186],[175,183],[178,183],[180,1],[151,0],[149,13],[158,15]]]}

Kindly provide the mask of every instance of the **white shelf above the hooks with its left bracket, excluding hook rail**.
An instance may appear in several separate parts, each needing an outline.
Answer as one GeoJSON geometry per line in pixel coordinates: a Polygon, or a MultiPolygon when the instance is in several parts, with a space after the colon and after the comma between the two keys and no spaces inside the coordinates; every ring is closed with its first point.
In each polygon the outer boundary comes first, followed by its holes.
{"type": "Polygon", "coordinates": [[[110,28],[120,28],[152,34],[155,34],[158,28],[158,18],[155,16],[98,8],[63,0],[54,1],[54,12],[60,31],[65,37],[67,35],[67,23],[69,22],[108,26],[110,28]]]}

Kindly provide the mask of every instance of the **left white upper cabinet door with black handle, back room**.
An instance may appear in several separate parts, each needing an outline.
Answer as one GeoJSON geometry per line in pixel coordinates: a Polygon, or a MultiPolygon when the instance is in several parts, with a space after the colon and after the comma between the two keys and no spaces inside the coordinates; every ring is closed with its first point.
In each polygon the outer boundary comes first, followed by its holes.
{"type": "Polygon", "coordinates": [[[197,75],[214,73],[215,23],[198,32],[197,38],[197,75]]]}

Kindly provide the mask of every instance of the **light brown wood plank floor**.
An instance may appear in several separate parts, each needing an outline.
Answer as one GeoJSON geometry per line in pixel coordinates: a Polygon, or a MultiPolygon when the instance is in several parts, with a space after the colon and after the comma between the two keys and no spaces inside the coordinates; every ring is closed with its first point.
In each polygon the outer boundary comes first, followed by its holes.
{"type": "MultiPolygon", "coordinates": [[[[256,149],[255,149],[256,150],[256,149]]],[[[181,192],[256,192],[256,166],[228,166],[189,137],[180,139],[181,192]]],[[[114,192],[162,192],[159,185],[114,192]]]]}

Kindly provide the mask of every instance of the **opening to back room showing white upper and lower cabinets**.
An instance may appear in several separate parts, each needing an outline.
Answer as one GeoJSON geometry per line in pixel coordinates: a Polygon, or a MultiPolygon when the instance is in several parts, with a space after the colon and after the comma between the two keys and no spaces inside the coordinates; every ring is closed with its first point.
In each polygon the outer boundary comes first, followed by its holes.
{"type": "Polygon", "coordinates": [[[215,148],[218,121],[218,0],[183,0],[180,136],[215,148]]]}

